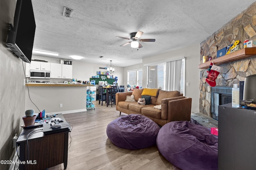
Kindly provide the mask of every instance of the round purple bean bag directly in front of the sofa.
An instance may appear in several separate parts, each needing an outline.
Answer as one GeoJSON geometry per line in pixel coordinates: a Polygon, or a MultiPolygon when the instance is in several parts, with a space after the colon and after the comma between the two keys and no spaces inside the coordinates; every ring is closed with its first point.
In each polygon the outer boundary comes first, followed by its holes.
{"type": "Polygon", "coordinates": [[[148,117],[130,114],[110,122],[106,131],[114,145],[125,149],[142,149],[156,145],[159,129],[148,117]]]}

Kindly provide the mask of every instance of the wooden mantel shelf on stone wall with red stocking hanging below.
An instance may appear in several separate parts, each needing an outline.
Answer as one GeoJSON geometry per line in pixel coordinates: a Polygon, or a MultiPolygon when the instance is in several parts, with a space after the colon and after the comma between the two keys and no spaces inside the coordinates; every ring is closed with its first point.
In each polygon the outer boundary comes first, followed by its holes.
{"type": "Polygon", "coordinates": [[[221,64],[231,63],[233,61],[237,61],[240,59],[246,59],[252,56],[256,56],[256,47],[240,49],[233,53],[224,55],[222,57],[212,59],[211,61],[207,61],[205,63],[199,64],[198,68],[209,68],[210,63],[212,62],[214,62],[214,65],[221,65],[221,64]]]}

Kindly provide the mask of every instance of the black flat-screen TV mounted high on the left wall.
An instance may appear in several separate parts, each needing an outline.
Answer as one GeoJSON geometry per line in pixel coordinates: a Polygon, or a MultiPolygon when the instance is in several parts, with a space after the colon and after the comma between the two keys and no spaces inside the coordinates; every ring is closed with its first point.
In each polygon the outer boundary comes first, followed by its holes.
{"type": "Polygon", "coordinates": [[[23,61],[30,63],[36,22],[31,0],[17,0],[14,25],[10,29],[6,45],[23,61]]]}

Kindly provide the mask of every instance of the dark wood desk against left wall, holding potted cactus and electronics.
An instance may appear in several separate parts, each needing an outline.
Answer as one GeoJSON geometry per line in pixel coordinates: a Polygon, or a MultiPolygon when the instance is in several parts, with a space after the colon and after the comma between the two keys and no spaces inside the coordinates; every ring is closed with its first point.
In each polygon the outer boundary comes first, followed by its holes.
{"type": "MultiPolygon", "coordinates": [[[[62,114],[56,115],[64,121],[62,114]]],[[[42,127],[36,129],[23,129],[17,139],[20,146],[20,170],[44,170],[52,166],[64,163],[64,169],[68,164],[68,133],[70,131],[44,135],[42,127]],[[35,133],[28,137],[28,133],[35,133]],[[22,135],[23,134],[23,135],[22,135]]]]}

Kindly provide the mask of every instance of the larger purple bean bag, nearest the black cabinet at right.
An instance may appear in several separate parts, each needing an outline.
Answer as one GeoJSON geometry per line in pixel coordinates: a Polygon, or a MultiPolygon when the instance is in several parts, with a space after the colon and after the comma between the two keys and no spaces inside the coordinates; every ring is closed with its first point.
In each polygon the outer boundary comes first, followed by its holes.
{"type": "Polygon", "coordinates": [[[182,170],[218,170],[218,137],[188,121],[172,121],[159,131],[160,153],[182,170]]]}

